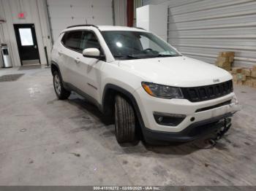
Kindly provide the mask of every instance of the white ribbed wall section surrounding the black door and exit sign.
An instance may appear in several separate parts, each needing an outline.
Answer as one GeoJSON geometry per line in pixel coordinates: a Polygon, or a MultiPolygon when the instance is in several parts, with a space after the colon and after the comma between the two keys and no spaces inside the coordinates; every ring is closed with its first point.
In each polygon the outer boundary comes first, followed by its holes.
{"type": "MultiPolygon", "coordinates": [[[[50,55],[50,30],[48,30],[48,18],[44,0],[0,0],[0,17],[7,20],[1,24],[3,30],[2,42],[8,44],[12,64],[20,66],[20,56],[15,37],[13,24],[34,23],[37,34],[37,44],[41,63],[46,63],[45,50],[47,47],[50,55]],[[19,12],[25,12],[25,18],[18,18],[19,12]]],[[[50,57],[48,58],[50,60],[50,57]]]]}

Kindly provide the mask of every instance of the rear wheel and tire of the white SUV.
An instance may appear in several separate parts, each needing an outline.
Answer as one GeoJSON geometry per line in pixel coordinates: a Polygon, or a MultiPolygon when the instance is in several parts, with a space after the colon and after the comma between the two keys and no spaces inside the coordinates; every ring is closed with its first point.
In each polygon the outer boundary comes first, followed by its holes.
{"type": "Polygon", "coordinates": [[[58,71],[53,72],[53,87],[57,97],[61,100],[69,98],[70,91],[66,90],[61,80],[61,75],[58,71]]]}

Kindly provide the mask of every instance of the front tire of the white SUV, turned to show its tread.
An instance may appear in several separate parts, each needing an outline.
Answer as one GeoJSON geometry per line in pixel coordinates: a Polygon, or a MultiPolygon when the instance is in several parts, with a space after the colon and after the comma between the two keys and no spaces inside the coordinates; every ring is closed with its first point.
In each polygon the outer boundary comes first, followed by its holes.
{"type": "Polygon", "coordinates": [[[121,95],[116,95],[115,133],[119,144],[138,141],[136,124],[136,116],[132,105],[121,95]]]}

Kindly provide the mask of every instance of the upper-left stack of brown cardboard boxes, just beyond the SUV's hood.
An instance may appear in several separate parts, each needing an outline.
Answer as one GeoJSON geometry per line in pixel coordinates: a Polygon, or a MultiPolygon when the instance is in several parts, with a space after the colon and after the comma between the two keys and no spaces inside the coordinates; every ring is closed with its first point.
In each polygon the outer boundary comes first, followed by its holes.
{"type": "Polygon", "coordinates": [[[235,52],[219,52],[219,56],[216,61],[216,66],[222,69],[231,71],[235,58],[235,52]]]}

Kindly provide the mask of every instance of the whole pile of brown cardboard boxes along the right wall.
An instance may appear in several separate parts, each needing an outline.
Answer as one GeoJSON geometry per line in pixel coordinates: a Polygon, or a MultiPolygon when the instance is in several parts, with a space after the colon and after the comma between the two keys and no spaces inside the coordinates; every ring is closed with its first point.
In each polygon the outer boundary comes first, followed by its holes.
{"type": "Polygon", "coordinates": [[[252,69],[232,67],[235,52],[219,52],[216,65],[233,75],[233,83],[256,88],[256,65],[252,69]]]}

